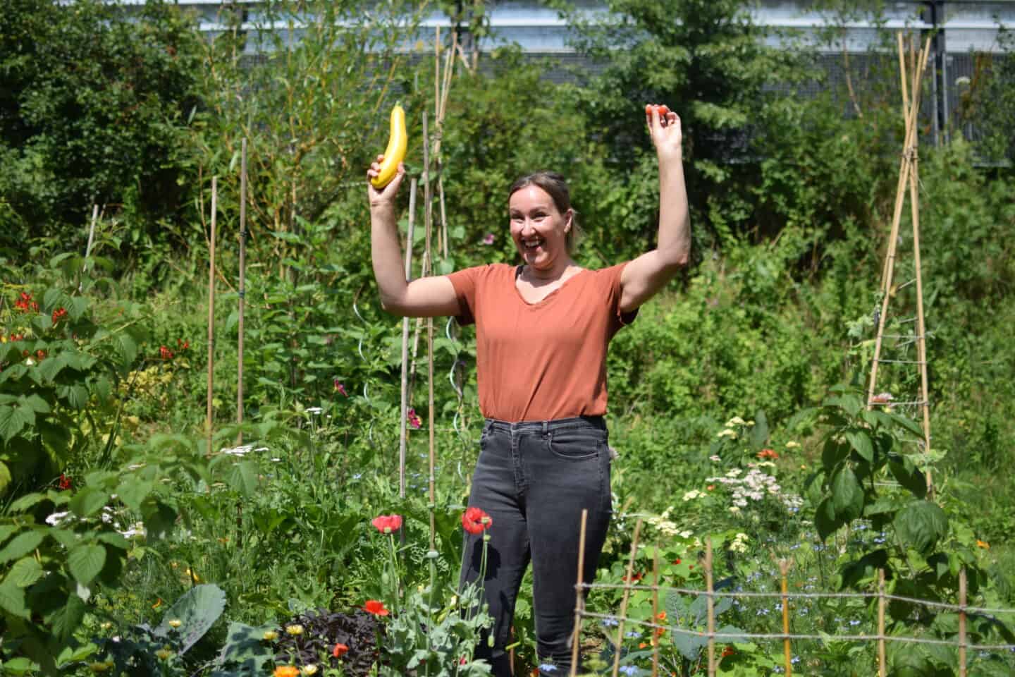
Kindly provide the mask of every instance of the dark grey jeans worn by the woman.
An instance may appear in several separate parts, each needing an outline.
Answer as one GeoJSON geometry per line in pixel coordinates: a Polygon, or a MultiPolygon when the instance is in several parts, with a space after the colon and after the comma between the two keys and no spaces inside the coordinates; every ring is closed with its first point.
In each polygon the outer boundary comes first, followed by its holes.
{"type": "MultiPolygon", "coordinates": [[[[489,529],[484,596],[493,617],[477,657],[495,677],[510,677],[505,647],[515,601],[532,561],[533,606],[540,664],[559,677],[570,668],[574,584],[582,511],[586,527],[585,572],[591,583],[610,523],[610,450],[600,416],[507,423],[487,419],[469,505],[493,520],[489,529]]],[[[466,534],[462,582],[479,578],[482,536],[466,534]]]]}

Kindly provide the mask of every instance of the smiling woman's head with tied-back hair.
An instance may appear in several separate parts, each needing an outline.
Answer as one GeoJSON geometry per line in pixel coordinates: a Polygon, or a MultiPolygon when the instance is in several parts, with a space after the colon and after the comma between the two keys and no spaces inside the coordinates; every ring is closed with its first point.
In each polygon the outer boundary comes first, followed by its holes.
{"type": "Polygon", "coordinates": [[[568,261],[567,230],[571,211],[561,214],[550,194],[538,186],[515,191],[507,203],[511,236],[525,263],[538,270],[552,270],[568,261]]]}

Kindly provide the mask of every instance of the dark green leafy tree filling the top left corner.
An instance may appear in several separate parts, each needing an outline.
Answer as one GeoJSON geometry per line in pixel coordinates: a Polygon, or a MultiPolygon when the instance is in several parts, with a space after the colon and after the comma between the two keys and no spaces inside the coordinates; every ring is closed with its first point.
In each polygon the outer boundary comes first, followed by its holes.
{"type": "Polygon", "coordinates": [[[0,202],[9,211],[0,212],[0,247],[61,233],[91,204],[123,205],[132,239],[154,235],[180,208],[200,38],[171,4],[131,9],[97,0],[5,6],[0,202]]]}

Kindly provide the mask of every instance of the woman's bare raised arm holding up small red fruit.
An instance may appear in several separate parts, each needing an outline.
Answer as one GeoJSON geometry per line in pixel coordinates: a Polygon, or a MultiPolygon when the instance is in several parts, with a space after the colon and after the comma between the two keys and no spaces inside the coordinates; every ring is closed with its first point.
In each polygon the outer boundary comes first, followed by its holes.
{"type": "Polygon", "coordinates": [[[628,263],[621,273],[623,313],[638,308],[672,280],[687,265],[691,250],[680,118],[666,107],[647,106],[646,119],[659,157],[659,238],[656,249],[628,263]]]}

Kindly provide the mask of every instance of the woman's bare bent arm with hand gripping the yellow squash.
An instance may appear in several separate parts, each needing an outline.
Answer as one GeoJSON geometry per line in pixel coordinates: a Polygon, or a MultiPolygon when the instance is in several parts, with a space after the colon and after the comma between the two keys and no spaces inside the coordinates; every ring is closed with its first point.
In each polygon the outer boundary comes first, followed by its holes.
{"type": "Polygon", "coordinates": [[[395,218],[395,196],[405,178],[405,165],[399,163],[398,174],[382,190],[369,183],[378,176],[383,155],[366,171],[366,192],[370,200],[370,258],[374,277],[381,292],[384,310],[401,317],[427,318],[457,315],[458,297],[447,276],[421,277],[411,282],[405,280],[402,261],[402,244],[395,218]]]}

